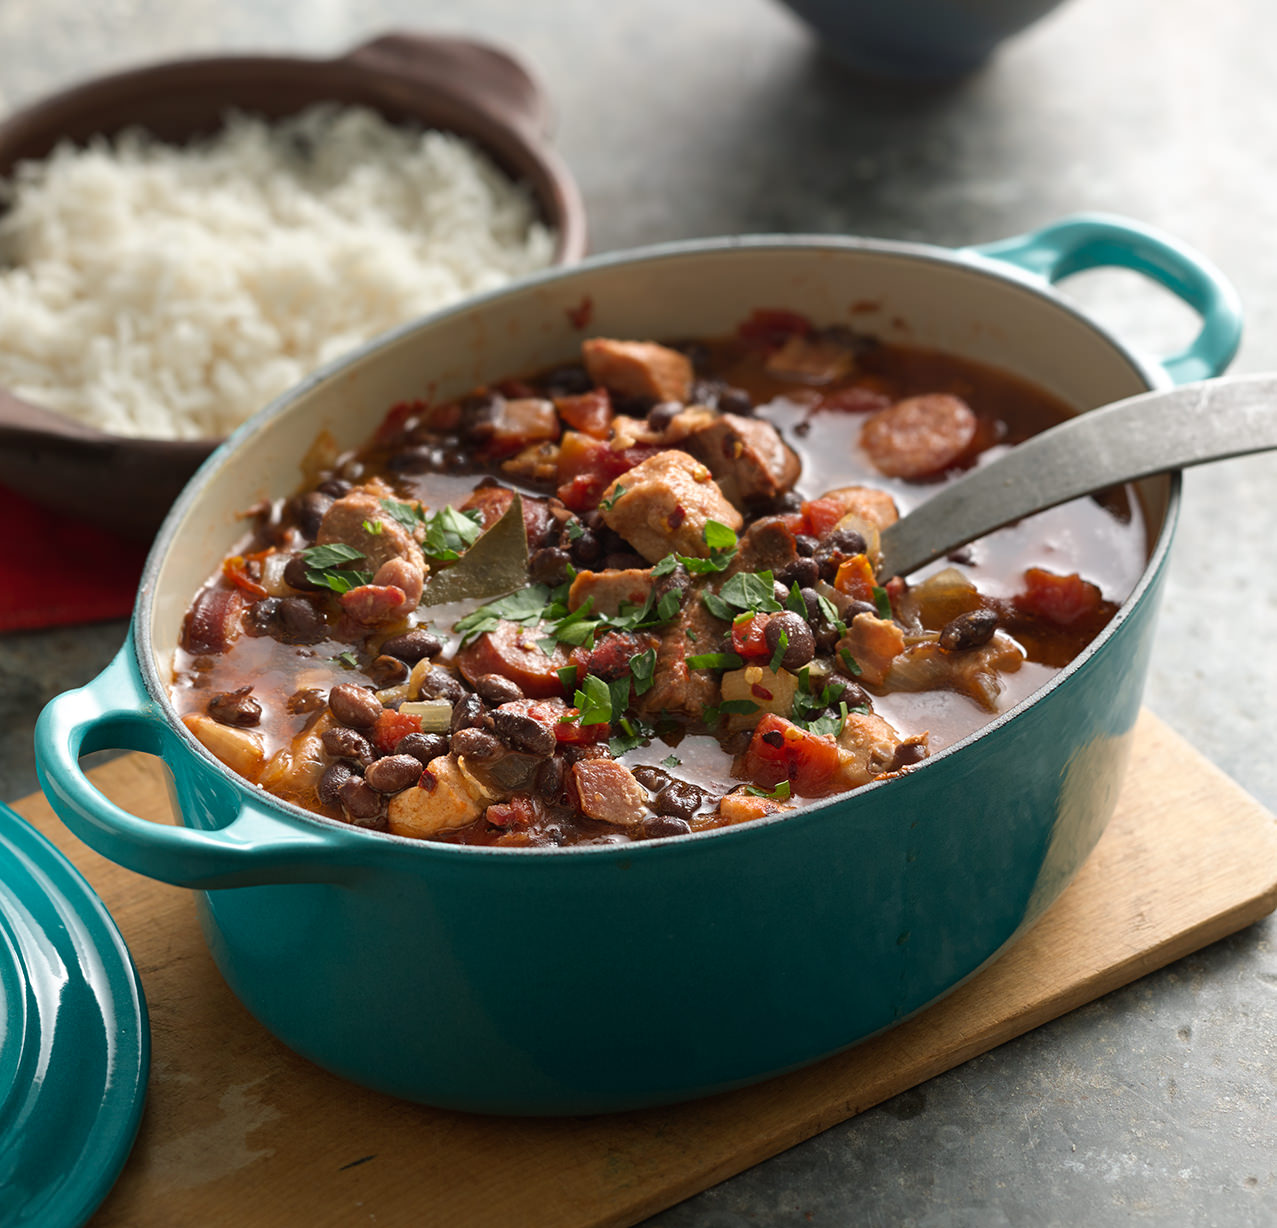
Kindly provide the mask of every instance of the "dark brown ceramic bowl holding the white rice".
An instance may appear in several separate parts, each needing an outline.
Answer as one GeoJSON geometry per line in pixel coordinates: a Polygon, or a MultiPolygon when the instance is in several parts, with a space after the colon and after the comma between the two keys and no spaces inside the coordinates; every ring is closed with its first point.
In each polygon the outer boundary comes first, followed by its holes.
{"type": "MultiPolygon", "coordinates": [[[[60,140],[138,126],[180,143],[216,131],[230,109],[282,119],[322,101],[469,138],[530,188],[558,232],[555,263],[585,254],[585,211],[547,142],[540,87],[507,52],[462,38],[392,33],[333,60],[218,56],[101,77],[0,124],[0,177],[60,140]]],[[[106,434],[0,388],[0,483],[135,537],[151,536],[220,442],[106,434]]]]}

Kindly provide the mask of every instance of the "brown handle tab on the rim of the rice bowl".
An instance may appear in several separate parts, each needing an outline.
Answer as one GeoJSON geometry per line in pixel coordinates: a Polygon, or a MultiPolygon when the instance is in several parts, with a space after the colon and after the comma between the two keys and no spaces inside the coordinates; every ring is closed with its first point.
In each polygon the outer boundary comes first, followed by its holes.
{"type": "Polygon", "coordinates": [[[536,140],[550,135],[545,92],[524,64],[499,47],[402,31],[354,47],[341,60],[457,94],[536,140]]]}

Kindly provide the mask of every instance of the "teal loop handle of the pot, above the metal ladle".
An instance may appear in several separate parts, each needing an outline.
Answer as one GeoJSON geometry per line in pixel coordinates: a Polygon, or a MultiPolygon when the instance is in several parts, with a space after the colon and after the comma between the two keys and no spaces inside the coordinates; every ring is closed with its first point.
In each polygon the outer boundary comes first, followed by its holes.
{"type": "Polygon", "coordinates": [[[1218,375],[1237,352],[1237,292],[1205,257],[1151,226],[1105,213],[1080,213],[1028,235],[967,250],[1014,264],[1052,285],[1091,268],[1129,268],[1170,290],[1202,317],[1202,329],[1191,345],[1157,360],[1172,383],[1218,375]]]}

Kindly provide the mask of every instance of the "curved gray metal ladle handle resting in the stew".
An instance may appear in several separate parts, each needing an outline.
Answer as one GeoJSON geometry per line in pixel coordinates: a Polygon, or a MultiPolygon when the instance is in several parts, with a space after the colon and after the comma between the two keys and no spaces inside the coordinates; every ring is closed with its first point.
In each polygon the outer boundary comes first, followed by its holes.
{"type": "Polygon", "coordinates": [[[908,576],[1079,495],[1277,448],[1277,375],[1145,392],[1052,426],[945,486],[882,532],[880,576],[908,576]]]}

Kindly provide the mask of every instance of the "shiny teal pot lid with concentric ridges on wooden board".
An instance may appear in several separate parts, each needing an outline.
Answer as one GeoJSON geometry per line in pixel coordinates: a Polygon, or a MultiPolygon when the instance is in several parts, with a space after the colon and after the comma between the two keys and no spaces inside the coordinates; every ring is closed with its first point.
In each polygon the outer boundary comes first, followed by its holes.
{"type": "Polygon", "coordinates": [[[0,804],[0,1225],[83,1224],[133,1146],[151,1034],[128,947],[61,853],[0,804]]]}

